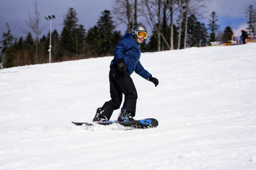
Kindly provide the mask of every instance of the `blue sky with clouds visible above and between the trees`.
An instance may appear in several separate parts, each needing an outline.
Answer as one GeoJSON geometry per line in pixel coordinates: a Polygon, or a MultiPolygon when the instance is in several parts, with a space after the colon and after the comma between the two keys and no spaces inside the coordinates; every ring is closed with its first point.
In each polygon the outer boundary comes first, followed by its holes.
{"type": "MultiPolygon", "coordinates": [[[[96,25],[96,22],[104,10],[112,10],[112,0],[37,0],[38,10],[41,15],[40,26],[44,27],[42,35],[46,35],[50,30],[50,22],[44,16],[55,15],[52,21],[52,29],[62,31],[64,14],[68,8],[74,8],[78,14],[79,24],[84,25],[86,30],[96,25]]],[[[234,34],[240,35],[240,29],[247,27],[245,11],[252,4],[256,9],[256,0],[206,0],[206,12],[204,19],[200,20],[208,23],[209,15],[215,11],[218,15],[220,31],[224,31],[226,26],[232,27],[234,34]]],[[[28,12],[33,16],[34,0],[0,0],[0,40],[2,33],[7,31],[6,22],[10,25],[10,30],[14,37],[26,36],[21,29],[31,31],[26,24],[28,12]]],[[[147,26],[147,23],[144,25],[147,26]]],[[[149,27],[148,27],[149,28],[149,27]]],[[[124,33],[125,25],[118,25],[117,30],[124,33]]],[[[149,32],[150,33],[150,32],[149,32]]],[[[150,36],[150,35],[149,35],[150,36]]]]}

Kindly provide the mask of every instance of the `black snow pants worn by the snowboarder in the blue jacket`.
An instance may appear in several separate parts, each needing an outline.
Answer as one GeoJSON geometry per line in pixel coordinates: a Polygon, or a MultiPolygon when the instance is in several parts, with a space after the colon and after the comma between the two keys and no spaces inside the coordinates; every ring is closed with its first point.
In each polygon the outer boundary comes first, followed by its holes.
{"type": "Polygon", "coordinates": [[[118,71],[117,64],[114,64],[110,68],[109,82],[111,100],[102,106],[105,109],[103,115],[109,120],[113,111],[120,108],[124,94],[123,106],[126,106],[126,111],[132,112],[135,116],[138,95],[129,72],[118,71]]]}

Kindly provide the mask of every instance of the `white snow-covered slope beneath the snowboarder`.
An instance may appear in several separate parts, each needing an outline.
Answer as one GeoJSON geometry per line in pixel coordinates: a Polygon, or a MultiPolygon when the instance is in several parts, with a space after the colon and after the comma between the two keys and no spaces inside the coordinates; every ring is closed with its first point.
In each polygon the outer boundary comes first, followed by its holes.
{"type": "Polygon", "coordinates": [[[132,74],[135,118],[158,127],[73,125],[110,100],[112,58],[0,70],[0,169],[256,170],[255,43],[142,53],[159,85],[132,74]]]}

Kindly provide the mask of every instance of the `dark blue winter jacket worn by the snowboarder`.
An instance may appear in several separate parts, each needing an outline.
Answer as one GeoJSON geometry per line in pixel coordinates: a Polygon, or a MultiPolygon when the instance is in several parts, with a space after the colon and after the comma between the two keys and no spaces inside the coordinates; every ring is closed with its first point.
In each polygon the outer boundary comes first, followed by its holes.
{"type": "Polygon", "coordinates": [[[140,47],[130,33],[124,34],[122,40],[114,48],[113,53],[114,59],[110,63],[110,68],[113,64],[118,64],[117,61],[119,59],[124,59],[124,63],[130,75],[135,71],[145,79],[151,76],[140,64],[140,47]]]}

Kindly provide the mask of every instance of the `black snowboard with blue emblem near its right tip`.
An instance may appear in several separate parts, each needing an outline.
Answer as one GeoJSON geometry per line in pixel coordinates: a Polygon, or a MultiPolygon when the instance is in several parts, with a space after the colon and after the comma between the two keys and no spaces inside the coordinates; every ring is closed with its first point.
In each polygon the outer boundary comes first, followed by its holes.
{"type": "Polygon", "coordinates": [[[153,118],[142,119],[142,120],[134,120],[134,121],[107,121],[107,122],[94,122],[94,123],[87,123],[87,122],[72,122],[77,126],[85,125],[85,126],[93,126],[96,124],[99,125],[111,125],[111,124],[120,124],[125,127],[134,127],[136,129],[146,129],[158,126],[158,121],[153,118]]]}

